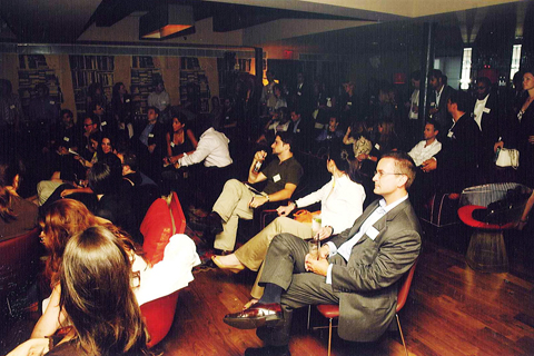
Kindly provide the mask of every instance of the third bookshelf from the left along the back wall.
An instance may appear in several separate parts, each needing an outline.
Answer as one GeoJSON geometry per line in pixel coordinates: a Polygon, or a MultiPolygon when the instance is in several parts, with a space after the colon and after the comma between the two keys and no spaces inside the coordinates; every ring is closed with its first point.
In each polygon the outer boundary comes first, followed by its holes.
{"type": "Polygon", "coordinates": [[[131,57],[130,93],[137,115],[147,113],[148,95],[154,90],[152,82],[161,77],[159,68],[154,66],[152,57],[131,57]]]}

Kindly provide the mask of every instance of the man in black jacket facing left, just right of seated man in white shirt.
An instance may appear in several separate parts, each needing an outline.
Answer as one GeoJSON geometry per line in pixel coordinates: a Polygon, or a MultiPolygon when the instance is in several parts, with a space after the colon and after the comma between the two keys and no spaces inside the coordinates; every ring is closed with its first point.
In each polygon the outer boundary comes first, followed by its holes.
{"type": "MultiPolygon", "coordinates": [[[[439,192],[459,194],[477,184],[482,137],[475,120],[468,113],[468,98],[463,91],[453,91],[447,101],[453,127],[445,135],[442,150],[422,165],[423,172],[436,170],[439,192]]],[[[443,136],[443,135],[442,135],[443,136]]]]}

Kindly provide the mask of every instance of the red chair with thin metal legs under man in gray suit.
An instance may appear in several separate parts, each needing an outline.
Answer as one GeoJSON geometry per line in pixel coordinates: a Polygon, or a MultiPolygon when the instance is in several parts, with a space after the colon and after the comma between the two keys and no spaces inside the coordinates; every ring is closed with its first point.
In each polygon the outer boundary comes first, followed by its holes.
{"type": "MultiPolygon", "coordinates": [[[[409,286],[412,285],[412,279],[414,279],[414,271],[415,266],[417,266],[417,259],[415,260],[414,265],[409,268],[408,273],[403,277],[404,280],[397,293],[397,308],[395,312],[395,317],[397,318],[397,326],[398,332],[400,333],[400,338],[403,340],[404,352],[406,356],[408,356],[408,349],[406,348],[406,342],[404,340],[403,328],[400,327],[400,320],[398,318],[398,312],[404,307],[406,304],[406,299],[408,298],[409,286]]],[[[310,312],[312,309],[309,309],[310,312]]],[[[337,319],[339,317],[339,305],[337,304],[320,304],[317,306],[317,310],[325,317],[328,318],[328,356],[330,356],[330,348],[332,348],[332,320],[337,319]]],[[[309,329],[309,312],[308,312],[308,329],[309,329]]],[[[322,328],[319,327],[314,327],[322,328]]]]}

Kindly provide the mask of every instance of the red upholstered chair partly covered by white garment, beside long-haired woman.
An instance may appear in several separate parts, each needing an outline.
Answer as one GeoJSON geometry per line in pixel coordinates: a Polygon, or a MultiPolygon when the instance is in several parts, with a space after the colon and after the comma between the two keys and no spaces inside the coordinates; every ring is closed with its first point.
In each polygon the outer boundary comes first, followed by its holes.
{"type": "MultiPolygon", "coordinates": [[[[152,264],[162,260],[165,247],[172,235],[184,234],[185,230],[186,217],[176,192],[172,191],[169,202],[162,198],[156,199],[141,224],[141,234],[145,237],[142,248],[147,258],[152,264]]],[[[141,315],[150,334],[149,347],[158,344],[169,332],[177,300],[178,290],[141,305],[141,315]]]]}

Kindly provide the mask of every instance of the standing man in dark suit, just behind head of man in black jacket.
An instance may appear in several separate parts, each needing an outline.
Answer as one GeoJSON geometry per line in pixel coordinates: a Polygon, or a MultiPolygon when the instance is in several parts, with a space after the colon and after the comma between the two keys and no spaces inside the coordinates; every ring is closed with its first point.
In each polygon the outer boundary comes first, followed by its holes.
{"type": "Polygon", "coordinates": [[[453,125],[451,115],[447,111],[447,100],[451,97],[451,92],[454,90],[447,86],[446,77],[438,69],[433,69],[428,73],[431,81],[432,92],[431,92],[431,118],[439,123],[442,128],[441,135],[437,137],[439,141],[443,141],[443,138],[447,134],[448,129],[453,125]]]}

